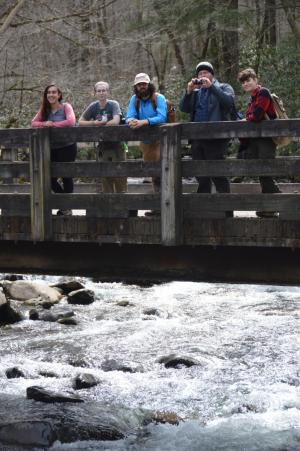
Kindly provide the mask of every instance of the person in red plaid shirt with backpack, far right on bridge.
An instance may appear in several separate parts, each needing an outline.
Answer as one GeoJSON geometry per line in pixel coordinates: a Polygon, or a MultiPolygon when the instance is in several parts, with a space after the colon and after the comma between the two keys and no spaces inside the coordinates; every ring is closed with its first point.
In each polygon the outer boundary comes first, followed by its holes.
{"type": "MultiPolygon", "coordinates": [[[[243,90],[250,94],[250,102],[246,111],[246,120],[261,122],[274,120],[277,114],[270,91],[258,83],[257,75],[252,68],[244,69],[238,74],[238,80],[243,90]]],[[[276,144],[272,138],[243,138],[240,140],[238,158],[245,159],[273,159],[275,158],[276,144]]],[[[280,193],[278,185],[272,177],[259,177],[262,193],[280,193]]],[[[260,218],[276,217],[276,212],[257,211],[260,218]]]]}

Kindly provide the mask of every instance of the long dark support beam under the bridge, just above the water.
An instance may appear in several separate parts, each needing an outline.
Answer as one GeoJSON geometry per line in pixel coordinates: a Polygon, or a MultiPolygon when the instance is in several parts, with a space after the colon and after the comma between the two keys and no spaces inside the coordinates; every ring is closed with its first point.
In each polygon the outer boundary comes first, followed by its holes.
{"type": "Polygon", "coordinates": [[[2,241],[0,272],[300,285],[300,249],[2,241]]]}

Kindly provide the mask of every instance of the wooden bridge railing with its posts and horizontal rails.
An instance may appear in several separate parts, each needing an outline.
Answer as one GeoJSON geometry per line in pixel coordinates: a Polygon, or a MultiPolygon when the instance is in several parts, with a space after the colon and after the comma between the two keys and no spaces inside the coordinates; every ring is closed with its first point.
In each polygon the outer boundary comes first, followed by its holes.
{"type": "MultiPolygon", "coordinates": [[[[0,208],[7,215],[31,218],[33,241],[53,238],[53,209],[83,209],[98,218],[116,218],[120,212],[155,209],[161,217],[160,242],[179,245],[185,242],[184,227],[191,220],[223,218],[225,211],[277,211],[279,219],[300,219],[300,195],[284,194],[196,194],[182,193],[182,178],[193,176],[283,176],[300,175],[300,158],[276,160],[191,161],[181,159],[182,139],[221,139],[238,137],[300,136],[300,120],[166,124],[131,130],[128,126],[73,127],[64,129],[0,130],[0,145],[9,148],[29,147],[30,162],[0,162],[0,177],[30,179],[30,193],[8,193],[0,190],[0,208]],[[98,142],[160,140],[161,163],[143,161],[51,163],[52,142],[98,142]],[[55,177],[161,177],[158,193],[74,193],[52,194],[51,176],[55,177]]],[[[56,218],[68,221],[70,218],[56,218]]],[[[124,218],[138,221],[140,218],[124,218]]],[[[75,220],[75,218],[72,218],[75,220]]],[[[263,221],[263,220],[262,220],[263,221]]],[[[213,231],[211,232],[213,233],[213,231]]]]}

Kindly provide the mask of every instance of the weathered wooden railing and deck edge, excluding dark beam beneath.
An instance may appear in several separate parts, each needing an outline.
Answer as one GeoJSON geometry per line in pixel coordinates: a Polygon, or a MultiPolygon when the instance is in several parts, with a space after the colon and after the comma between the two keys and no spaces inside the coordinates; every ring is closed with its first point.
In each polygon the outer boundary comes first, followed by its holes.
{"type": "MultiPolygon", "coordinates": [[[[300,247],[299,186],[285,194],[260,194],[257,184],[233,185],[232,194],[196,194],[195,184],[182,187],[182,177],[300,175],[300,158],[276,160],[191,161],[180,159],[184,138],[230,138],[242,136],[299,136],[300,120],[265,121],[262,124],[226,122],[166,124],[131,130],[118,127],[73,127],[66,129],[0,130],[0,144],[24,147],[31,144],[30,165],[0,162],[0,177],[31,179],[20,191],[0,189],[0,237],[9,240],[83,241],[98,243],[287,246],[300,247]],[[50,164],[50,146],[56,141],[97,142],[161,139],[161,165],[143,161],[100,163],[85,161],[50,164]],[[161,194],[131,187],[126,194],[102,194],[98,188],[73,194],[51,194],[50,177],[161,176],[161,194]],[[134,191],[135,190],[135,191],[134,191]],[[184,191],[184,194],[182,194],[184,191]],[[240,193],[240,194],[236,194],[240,193]],[[92,210],[94,217],[54,217],[52,209],[92,210]],[[129,210],[161,210],[160,218],[125,218],[129,210]],[[276,219],[224,218],[228,211],[275,211],[276,219]],[[28,218],[31,216],[31,227],[28,218]],[[16,217],[17,215],[17,217],[16,217]],[[216,219],[209,219],[214,216],[216,219]],[[102,219],[101,217],[104,217],[102,219]],[[223,219],[218,219],[223,217],[223,219]],[[289,219],[287,221],[286,219],[289,219]]],[[[96,185],[97,186],[97,185],[96,185]]]]}

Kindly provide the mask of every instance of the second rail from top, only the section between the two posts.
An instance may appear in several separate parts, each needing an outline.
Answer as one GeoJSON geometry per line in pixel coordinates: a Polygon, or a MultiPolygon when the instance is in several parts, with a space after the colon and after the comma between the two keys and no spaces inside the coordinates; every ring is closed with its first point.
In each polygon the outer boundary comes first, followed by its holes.
{"type": "Polygon", "coordinates": [[[52,163],[51,174],[54,177],[154,177],[160,175],[160,164],[142,160],[52,163]]]}

